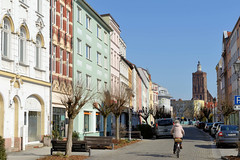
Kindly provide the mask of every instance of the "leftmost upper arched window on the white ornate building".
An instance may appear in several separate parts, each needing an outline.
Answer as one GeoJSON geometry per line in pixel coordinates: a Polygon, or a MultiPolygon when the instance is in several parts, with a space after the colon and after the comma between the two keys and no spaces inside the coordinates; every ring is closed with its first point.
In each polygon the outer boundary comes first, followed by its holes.
{"type": "Polygon", "coordinates": [[[2,57],[9,58],[10,52],[10,22],[8,18],[3,19],[3,28],[2,28],[2,36],[1,36],[1,54],[2,57]]]}

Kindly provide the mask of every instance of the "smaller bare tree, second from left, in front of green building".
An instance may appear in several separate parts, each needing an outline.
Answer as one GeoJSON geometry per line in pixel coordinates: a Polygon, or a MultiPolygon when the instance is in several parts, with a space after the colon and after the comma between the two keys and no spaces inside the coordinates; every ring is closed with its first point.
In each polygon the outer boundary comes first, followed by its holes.
{"type": "Polygon", "coordinates": [[[113,108],[114,103],[112,101],[113,95],[109,90],[104,91],[102,95],[103,96],[101,98],[101,104],[98,102],[94,102],[93,107],[97,109],[100,112],[100,114],[103,116],[104,136],[106,137],[107,136],[107,117],[111,113],[111,109],[113,108]]]}

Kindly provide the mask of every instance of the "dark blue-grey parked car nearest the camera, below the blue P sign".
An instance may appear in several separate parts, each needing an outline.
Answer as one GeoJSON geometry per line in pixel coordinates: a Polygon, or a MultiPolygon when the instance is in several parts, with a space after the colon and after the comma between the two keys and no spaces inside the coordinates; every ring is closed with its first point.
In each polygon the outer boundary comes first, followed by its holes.
{"type": "Polygon", "coordinates": [[[223,145],[237,145],[238,143],[238,126],[236,125],[219,125],[216,133],[216,146],[219,148],[223,145]]]}

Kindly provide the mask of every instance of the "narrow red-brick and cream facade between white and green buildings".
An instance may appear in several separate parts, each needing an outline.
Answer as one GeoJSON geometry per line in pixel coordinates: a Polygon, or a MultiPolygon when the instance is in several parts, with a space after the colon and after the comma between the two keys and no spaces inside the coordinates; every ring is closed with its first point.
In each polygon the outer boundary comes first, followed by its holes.
{"type": "Polygon", "coordinates": [[[72,83],[72,0],[51,0],[52,41],[51,41],[51,77],[52,77],[52,121],[53,130],[66,137],[66,108],[61,104],[61,93],[72,83]]]}

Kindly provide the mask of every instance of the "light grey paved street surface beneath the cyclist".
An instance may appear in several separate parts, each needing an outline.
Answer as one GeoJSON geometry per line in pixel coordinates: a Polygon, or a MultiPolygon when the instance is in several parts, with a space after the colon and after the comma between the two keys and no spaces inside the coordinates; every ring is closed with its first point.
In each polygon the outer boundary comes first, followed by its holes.
{"type": "MultiPolygon", "coordinates": [[[[236,148],[215,147],[213,139],[202,130],[193,126],[184,126],[185,137],[183,149],[179,159],[204,160],[220,159],[221,156],[236,155],[236,148]]],[[[92,150],[92,156],[88,160],[156,160],[176,159],[173,152],[173,139],[162,138],[142,140],[141,142],[117,150],[92,150]]],[[[49,155],[50,147],[36,148],[24,152],[12,152],[8,154],[8,160],[35,160],[41,156],[49,155]]],[[[87,153],[73,153],[87,155],[87,153]]]]}

